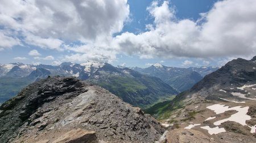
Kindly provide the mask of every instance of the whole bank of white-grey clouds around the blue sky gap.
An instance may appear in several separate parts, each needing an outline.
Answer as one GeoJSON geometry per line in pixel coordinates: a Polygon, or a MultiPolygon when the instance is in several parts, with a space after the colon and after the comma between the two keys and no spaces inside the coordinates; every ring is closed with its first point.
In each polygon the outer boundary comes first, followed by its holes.
{"type": "Polygon", "coordinates": [[[70,51],[62,60],[79,62],[109,62],[117,54],[166,59],[249,57],[256,55],[255,7],[255,0],[218,1],[192,21],[177,19],[168,1],[154,1],[147,7],[154,23],[146,25],[146,32],[113,36],[129,19],[127,0],[2,0],[0,51],[28,44],[70,51]]]}

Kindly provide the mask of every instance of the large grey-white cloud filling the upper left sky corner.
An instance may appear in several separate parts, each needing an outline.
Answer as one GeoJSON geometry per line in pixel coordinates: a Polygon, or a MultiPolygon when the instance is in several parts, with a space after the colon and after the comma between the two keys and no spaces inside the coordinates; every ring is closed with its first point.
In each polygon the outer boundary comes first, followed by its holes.
{"type": "MultiPolygon", "coordinates": [[[[128,19],[127,0],[2,0],[0,5],[3,31],[44,49],[62,50],[65,44],[77,41],[107,42],[128,19]]],[[[0,46],[18,44],[1,32],[2,38],[7,42],[0,46]]]]}

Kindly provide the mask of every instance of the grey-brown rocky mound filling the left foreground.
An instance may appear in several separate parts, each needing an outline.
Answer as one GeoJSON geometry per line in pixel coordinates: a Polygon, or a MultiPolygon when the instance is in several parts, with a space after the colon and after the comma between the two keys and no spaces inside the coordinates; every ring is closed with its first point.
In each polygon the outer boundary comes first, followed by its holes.
{"type": "Polygon", "coordinates": [[[31,84],[0,110],[3,143],[72,142],[87,135],[95,142],[154,142],[164,132],[141,109],[74,77],[31,84]]]}

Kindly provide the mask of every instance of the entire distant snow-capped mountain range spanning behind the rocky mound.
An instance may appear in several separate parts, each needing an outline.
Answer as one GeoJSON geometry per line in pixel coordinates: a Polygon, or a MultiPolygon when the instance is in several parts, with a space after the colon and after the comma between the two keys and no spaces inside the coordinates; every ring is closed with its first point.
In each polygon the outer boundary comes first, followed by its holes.
{"type": "Polygon", "coordinates": [[[216,68],[175,68],[154,64],[148,68],[114,67],[108,63],[64,62],[59,66],[23,63],[0,64],[0,102],[15,96],[28,84],[48,76],[74,76],[110,90],[123,101],[143,109],[174,98],[216,68]]]}

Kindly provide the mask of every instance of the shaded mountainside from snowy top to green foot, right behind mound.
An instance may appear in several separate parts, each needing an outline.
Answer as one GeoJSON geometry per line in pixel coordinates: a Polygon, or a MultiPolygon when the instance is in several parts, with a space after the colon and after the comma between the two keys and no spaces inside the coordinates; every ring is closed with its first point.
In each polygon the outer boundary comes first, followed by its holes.
{"type": "Polygon", "coordinates": [[[116,68],[110,64],[90,76],[89,81],[108,89],[123,101],[142,108],[177,94],[174,88],[157,77],[142,75],[130,68],[116,68]]]}

